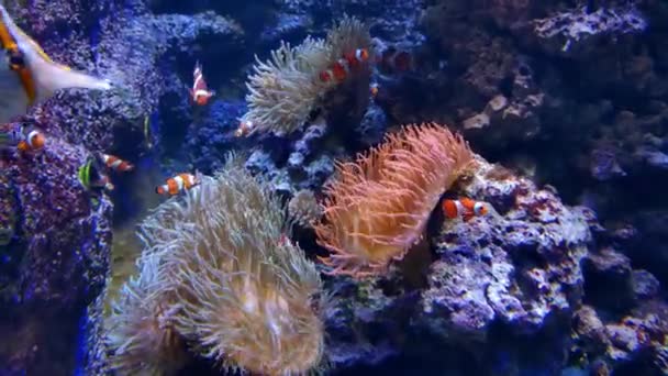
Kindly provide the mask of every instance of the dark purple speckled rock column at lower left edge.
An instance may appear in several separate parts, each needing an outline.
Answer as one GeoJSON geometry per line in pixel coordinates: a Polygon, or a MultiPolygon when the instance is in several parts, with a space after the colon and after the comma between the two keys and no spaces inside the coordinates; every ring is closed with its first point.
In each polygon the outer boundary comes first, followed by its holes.
{"type": "Polygon", "coordinates": [[[3,375],[75,367],[78,322],[104,287],[111,243],[109,199],[93,199],[77,178],[88,155],[51,137],[41,152],[3,161],[0,213],[14,223],[2,251],[3,375]]]}

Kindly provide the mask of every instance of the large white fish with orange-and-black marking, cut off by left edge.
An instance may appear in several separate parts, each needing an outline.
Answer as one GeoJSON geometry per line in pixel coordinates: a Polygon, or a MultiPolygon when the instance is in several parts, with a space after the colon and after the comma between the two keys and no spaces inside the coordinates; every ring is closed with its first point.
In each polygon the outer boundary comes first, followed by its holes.
{"type": "Polygon", "coordinates": [[[0,64],[0,123],[24,114],[29,108],[57,90],[80,88],[109,90],[108,79],[73,70],[52,60],[40,45],[25,34],[0,4],[0,44],[8,60],[0,64]]]}

